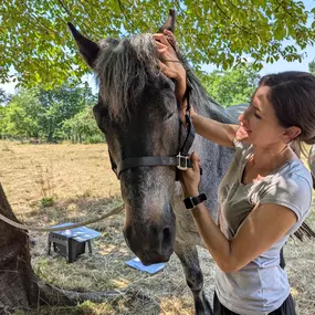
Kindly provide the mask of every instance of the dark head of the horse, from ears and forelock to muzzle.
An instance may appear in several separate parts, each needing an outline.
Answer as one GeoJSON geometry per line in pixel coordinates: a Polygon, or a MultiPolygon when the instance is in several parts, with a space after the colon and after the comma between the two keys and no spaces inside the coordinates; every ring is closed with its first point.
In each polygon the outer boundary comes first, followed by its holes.
{"type": "MultiPolygon", "coordinates": [[[[174,22],[171,11],[160,31],[174,31],[174,22]]],[[[174,159],[182,141],[175,83],[158,69],[159,56],[150,34],[105,39],[98,44],[72,24],[70,28],[81,54],[98,77],[94,114],[120,180],[126,242],[144,264],[166,262],[176,237],[176,166],[157,160],[174,159]]]]}

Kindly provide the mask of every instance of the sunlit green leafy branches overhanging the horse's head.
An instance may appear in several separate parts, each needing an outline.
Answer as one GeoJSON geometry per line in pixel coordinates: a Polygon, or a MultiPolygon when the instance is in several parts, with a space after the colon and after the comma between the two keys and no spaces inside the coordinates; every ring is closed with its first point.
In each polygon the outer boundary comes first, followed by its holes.
{"type": "Polygon", "coordinates": [[[177,10],[177,38],[191,63],[228,69],[244,62],[302,60],[315,39],[315,9],[292,0],[1,0],[0,81],[61,84],[87,71],[66,28],[72,21],[93,40],[155,32],[177,10]],[[312,24],[313,22],[313,24],[312,24]],[[284,40],[293,40],[287,45],[284,40]],[[10,72],[11,70],[11,72],[10,72]]]}

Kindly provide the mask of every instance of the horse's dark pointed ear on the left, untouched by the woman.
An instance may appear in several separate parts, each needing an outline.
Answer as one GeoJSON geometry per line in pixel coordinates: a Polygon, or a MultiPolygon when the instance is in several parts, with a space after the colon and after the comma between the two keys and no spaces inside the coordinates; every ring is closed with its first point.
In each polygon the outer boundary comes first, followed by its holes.
{"type": "Polygon", "coordinates": [[[93,41],[88,40],[87,38],[83,36],[72,23],[67,23],[73,38],[76,41],[78,46],[78,51],[90,65],[90,67],[94,67],[94,63],[99,54],[99,46],[98,44],[94,43],[93,41]]]}

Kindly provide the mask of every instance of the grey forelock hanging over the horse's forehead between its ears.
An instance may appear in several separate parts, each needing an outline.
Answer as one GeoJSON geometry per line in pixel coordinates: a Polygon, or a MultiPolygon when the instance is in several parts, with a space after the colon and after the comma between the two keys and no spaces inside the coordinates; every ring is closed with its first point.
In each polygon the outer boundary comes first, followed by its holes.
{"type": "Polygon", "coordinates": [[[155,81],[158,71],[158,53],[151,34],[134,35],[122,41],[105,39],[95,71],[99,81],[99,94],[108,114],[119,120],[129,115],[148,81],[155,81]]]}

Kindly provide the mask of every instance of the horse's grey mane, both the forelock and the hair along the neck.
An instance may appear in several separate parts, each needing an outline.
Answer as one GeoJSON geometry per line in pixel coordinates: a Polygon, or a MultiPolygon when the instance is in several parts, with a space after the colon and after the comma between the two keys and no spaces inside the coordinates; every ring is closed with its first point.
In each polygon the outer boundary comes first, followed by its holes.
{"type": "MultiPolygon", "coordinates": [[[[101,42],[101,53],[96,60],[95,71],[102,99],[108,106],[108,114],[113,118],[123,120],[128,117],[132,106],[137,104],[146,84],[149,81],[158,81],[161,75],[158,70],[158,57],[155,41],[149,33],[122,41],[107,38],[101,42]]],[[[178,57],[186,69],[188,84],[192,87],[193,108],[219,122],[232,123],[234,119],[208,95],[179,52],[178,57]]]]}

